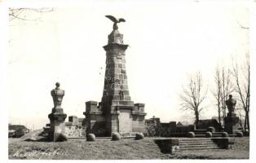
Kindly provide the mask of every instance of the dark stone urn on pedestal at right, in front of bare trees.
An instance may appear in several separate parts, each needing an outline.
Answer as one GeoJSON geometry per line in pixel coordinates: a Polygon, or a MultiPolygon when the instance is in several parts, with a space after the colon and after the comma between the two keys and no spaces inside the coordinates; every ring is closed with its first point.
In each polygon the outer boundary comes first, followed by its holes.
{"type": "Polygon", "coordinates": [[[235,106],[236,100],[232,99],[232,95],[229,95],[229,99],[226,101],[228,113],[227,117],[224,118],[225,127],[224,130],[228,134],[236,134],[239,130],[239,117],[236,117],[235,106]]]}

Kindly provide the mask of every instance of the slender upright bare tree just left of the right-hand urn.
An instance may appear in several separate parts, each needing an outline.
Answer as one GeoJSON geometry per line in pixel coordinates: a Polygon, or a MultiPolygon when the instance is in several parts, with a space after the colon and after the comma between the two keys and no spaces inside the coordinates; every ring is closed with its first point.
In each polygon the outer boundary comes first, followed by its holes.
{"type": "Polygon", "coordinates": [[[226,100],[228,99],[228,95],[230,95],[233,92],[231,77],[232,75],[229,69],[226,69],[224,67],[215,68],[216,88],[213,90],[213,95],[217,102],[218,123],[220,124],[220,126],[222,126],[221,119],[224,119],[224,117],[226,117],[227,115],[226,100]]]}

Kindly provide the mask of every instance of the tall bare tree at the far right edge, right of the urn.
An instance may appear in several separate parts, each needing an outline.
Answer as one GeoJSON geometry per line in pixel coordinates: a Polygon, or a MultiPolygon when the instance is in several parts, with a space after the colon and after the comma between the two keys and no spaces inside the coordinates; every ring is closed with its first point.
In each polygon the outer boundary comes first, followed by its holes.
{"type": "Polygon", "coordinates": [[[248,54],[244,66],[239,67],[237,62],[233,64],[233,75],[236,81],[235,90],[245,112],[244,129],[249,131],[250,66],[248,54]]]}

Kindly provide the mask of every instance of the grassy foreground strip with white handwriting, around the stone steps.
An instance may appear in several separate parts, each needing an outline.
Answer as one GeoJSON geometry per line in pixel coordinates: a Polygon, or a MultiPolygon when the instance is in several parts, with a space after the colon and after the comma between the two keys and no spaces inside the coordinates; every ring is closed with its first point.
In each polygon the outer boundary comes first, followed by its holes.
{"type": "Polygon", "coordinates": [[[9,139],[9,159],[248,159],[249,138],[236,138],[232,149],[197,150],[163,154],[152,139],[121,141],[69,139],[63,143],[9,139]]]}

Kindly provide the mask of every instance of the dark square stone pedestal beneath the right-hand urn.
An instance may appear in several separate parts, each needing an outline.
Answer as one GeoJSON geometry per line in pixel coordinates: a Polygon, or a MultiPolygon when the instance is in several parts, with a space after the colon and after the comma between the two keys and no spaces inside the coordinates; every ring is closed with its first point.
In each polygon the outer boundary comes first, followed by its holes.
{"type": "Polygon", "coordinates": [[[227,132],[227,134],[236,134],[238,132],[239,128],[239,117],[236,117],[236,115],[227,115],[227,117],[224,118],[225,121],[225,127],[224,130],[227,132]]]}

